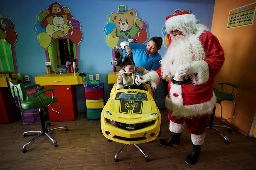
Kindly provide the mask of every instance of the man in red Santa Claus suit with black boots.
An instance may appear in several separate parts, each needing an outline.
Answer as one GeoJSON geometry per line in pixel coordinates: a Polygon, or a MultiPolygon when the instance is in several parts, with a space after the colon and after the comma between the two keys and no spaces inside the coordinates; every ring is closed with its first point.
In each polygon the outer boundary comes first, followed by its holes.
{"type": "Polygon", "coordinates": [[[193,151],[185,162],[195,164],[204,143],[207,114],[211,114],[216,97],[213,93],[214,77],[224,63],[224,51],[218,39],[195,15],[180,12],[166,17],[167,51],[161,67],[138,76],[136,81],[149,82],[154,88],[166,76],[169,79],[165,107],[170,120],[170,137],[161,139],[160,145],[180,144],[180,135],[187,124],[191,133],[193,151]]]}

